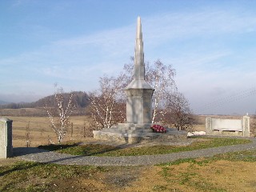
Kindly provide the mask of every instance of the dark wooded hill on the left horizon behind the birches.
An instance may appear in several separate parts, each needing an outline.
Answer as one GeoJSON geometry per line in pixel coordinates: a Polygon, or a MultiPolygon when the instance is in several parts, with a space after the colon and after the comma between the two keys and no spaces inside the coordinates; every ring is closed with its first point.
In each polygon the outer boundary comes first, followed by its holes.
{"type": "MultiPolygon", "coordinates": [[[[85,108],[89,105],[89,96],[86,92],[73,91],[74,101],[77,103],[78,108],[85,108]]],[[[64,98],[68,98],[70,93],[65,93],[64,98]]],[[[54,94],[39,99],[37,102],[19,102],[19,103],[7,103],[0,101],[0,109],[21,109],[21,108],[38,108],[49,105],[53,106],[55,102],[54,94]]]]}

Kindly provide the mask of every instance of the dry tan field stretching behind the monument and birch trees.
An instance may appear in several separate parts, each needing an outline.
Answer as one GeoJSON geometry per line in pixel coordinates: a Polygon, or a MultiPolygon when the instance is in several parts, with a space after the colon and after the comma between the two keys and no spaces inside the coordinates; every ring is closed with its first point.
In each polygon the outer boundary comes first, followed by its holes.
{"type": "MultiPolygon", "coordinates": [[[[13,145],[26,146],[26,134],[30,134],[30,146],[39,146],[52,142],[57,142],[54,131],[50,128],[48,117],[18,117],[18,116],[2,116],[13,120],[13,145]]],[[[194,130],[205,131],[206,115],[197,116],[194,130]]],[[[211,116],[214,118],[241,118],[234,116],[211,116]]],[[[70,122],[73,123],[67,130],[65,141],[78,140],[82,141],[88,136],[92,136],[90,128],[90,116],[71,116],[70,122]]]]}

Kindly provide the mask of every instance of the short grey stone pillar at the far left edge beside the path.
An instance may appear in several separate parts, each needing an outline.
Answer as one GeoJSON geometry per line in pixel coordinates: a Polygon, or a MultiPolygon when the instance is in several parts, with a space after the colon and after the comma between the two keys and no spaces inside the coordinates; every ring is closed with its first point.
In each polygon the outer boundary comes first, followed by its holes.
{"type": "Polygon", "coordinates": [[[13,156],[12,120],[0,118],[0,158],[13,156]]]}

